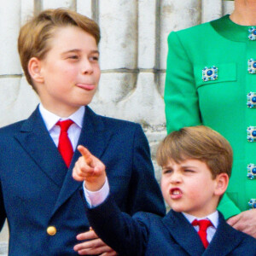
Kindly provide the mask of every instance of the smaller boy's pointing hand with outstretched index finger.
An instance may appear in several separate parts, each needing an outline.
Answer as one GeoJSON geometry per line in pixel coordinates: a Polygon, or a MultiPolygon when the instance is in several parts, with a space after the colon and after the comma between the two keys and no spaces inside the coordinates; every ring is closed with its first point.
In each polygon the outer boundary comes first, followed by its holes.
{"type": "Polygon", "coordinates": [[[82,156],[73,167],[73,178],[84,181],[86,189],[96,191],[102,189],[106,181],[105,166],[90,151],[83,146],[78,147],[82,156]]]}

